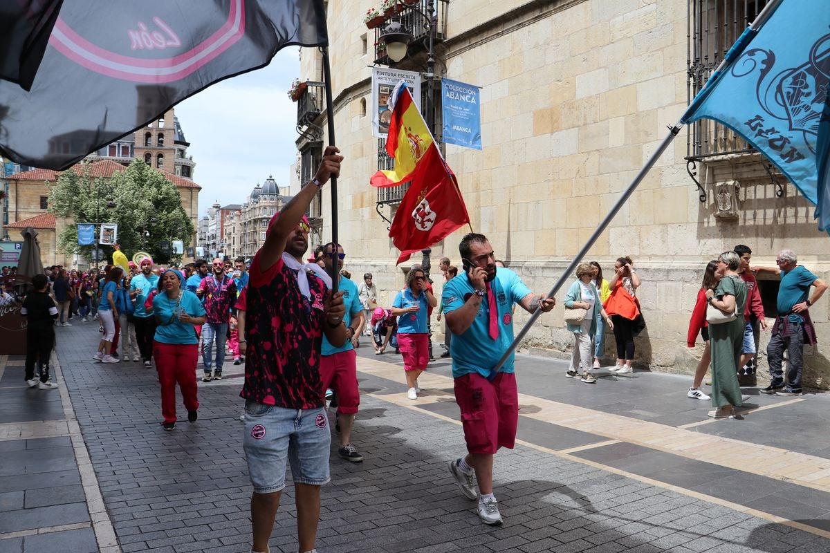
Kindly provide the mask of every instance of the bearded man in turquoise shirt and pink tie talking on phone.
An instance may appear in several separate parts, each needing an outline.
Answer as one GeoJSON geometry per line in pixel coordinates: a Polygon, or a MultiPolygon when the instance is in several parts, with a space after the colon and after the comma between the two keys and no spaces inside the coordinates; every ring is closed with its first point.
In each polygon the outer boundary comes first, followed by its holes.
{"type": "Polygon", "coordinates": [[[466,457],[450,462],[450,472],[469,499],[478,499],[485,524],[501,524],[493,495],[493,455],[513,449],[519,422],[519,394],[513,354],[496,373],[496,363],[513,342],[512,308],[528,313],[554,308],[555,298],[530,292],[510,269],[496,267],[485,235],[470,233],[458,245],[464,272],[444,286],[442,303],[452,332],[452,377],[466,441],[466,457]]]}

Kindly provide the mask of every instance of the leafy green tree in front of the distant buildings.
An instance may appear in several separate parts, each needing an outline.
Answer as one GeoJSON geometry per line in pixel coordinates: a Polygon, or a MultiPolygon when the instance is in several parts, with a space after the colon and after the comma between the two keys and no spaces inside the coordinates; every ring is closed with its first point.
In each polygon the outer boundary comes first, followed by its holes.
{"type": "MultiPolygon", "coordinates": [[[[168,263],[164,241],[182,240],[185,247],[189,245],[193,223],[182,207],[176,185],[163,172],[139,159],[109,179],[92,177],[90,172],[88,162],[81,167],[80,174],[74,170],[62,172],[49,192],[49,211],[73,220],[58,237],[59,250],[91,259],[93,246],[78,244],[76,224],[95,222],[118,225],[118,242],[129,259],[140,250],[159,263],[168,263]],[[115,207],[108,208],[109,201],[115,207]]],[[[98,232],[96,229],[96,237],[98,232]]],[[[100,247],[105,250],[105,259],[110,260],[112,249],[100,247]]]]}

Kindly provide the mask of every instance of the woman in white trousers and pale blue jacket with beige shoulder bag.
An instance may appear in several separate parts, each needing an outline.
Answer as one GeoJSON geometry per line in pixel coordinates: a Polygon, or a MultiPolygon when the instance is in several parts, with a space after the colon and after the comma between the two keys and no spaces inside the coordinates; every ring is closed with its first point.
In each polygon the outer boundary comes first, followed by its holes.
{"type": "Polygon", "coordinates": [[[586,384],[597,381],[591,374],[591,337],[597,332],[598,315],[613,329],[614,325],[599,301],[597,287],[593,285],[593,267],[580,263],[576,268],[577,279],[565,294],[565,323],[568,331],[574,333],[571,347],[571,364],[565,376],[579,378],[586,384]],[[582,319],[577,321],[579,313],[582,319]],[[582,371],[579,371],[582,367],[582,371]],[[581,373],[581,374],[580,374],[581,373]]]}

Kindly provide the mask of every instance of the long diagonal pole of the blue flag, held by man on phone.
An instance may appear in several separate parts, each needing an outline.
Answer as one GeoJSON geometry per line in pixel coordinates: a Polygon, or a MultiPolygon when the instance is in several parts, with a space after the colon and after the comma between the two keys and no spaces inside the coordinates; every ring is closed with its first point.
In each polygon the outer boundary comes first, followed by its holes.
{"type": "MultiPolygon", "coordinates": [[[[677,136],[677,133],[680,132],[680,129],[683,127],[683,125],[686,124],[686,118],[688,117],[688,115],[691,114],[692,111],[694,111],[697,104],[700,104],[701,101],[705,99],[707,95],[709,95],[712,86],[715,85],[715,82],[720,79],[720,71],[724,70],[726,65],[729,65],[732,61],[735,61],[735,59],[738,56],[740,56],[741,52],[743,52],[746,46],[749,44],[749,42],[752,41],[754,35],[758,32],[759,28],[762,25],[764,25],[764,22],[766,22],[770,16],[772,16],[773,12],[777,7],[779,7],[779,4],[781,2],[783,2],[783,0],[771,0],[769,3],[767,3],[767,5],[764,6],[764,9],[762,9],[761,12],[759,12],[758,16],[755,17],[752,24],[749,25],[749,27],[746,28],[745,32],[738,37],[738,40],[735,41],[735,44],[732,45],[730,50],[726,53],[726,56],[724,56],[723,61],[720,62],[720,65],[718,65],[717,69],[715,69],[712,75],[710,75],[709,80],[706,81],[706,85],[704,85],[703,90],[698,92],[696,97],[692,99],[691,104],[689,104],[689,109],[686,109],[686,114],[683,114],[683,117],[680,121],[678,121],[673,126],[669,127],[669,133],[666,136],[666,138],[663,138],[663,141],[662,143],[660,143],[660,146],[657,147],[657,150],[654,153],[652,153],[652,157],[648,158],[646,165],[642,167],[642,169],[640,169],[640,172],[637,173],[637,177],[634,177],[634,180],[631,182],[630,185],[628,185],[626,191],[623,192],[623,196],[620,196],[617,203],[613,206],[611,211],[608,212],[608,215],[605,216],[605,219],[603,219],[603,221],[599,224],[597,229],[593,231],[593,235],[591,235],[591,237],[588,239],[588,242],[586,242],[585,245],[583,245],[582,250],[579,250],[579,253],[574,257],[573,260],[571,260],[570,264],[568,265],[568,268],[565,269],[564,274],[562,274],[562,276],[559,277],[559,280],[556,281],[554,287],[550,289],[548,297],[553,296],[555,293],[559,292],[559,289],[562,288],[565,279],[568,278],[569,274],[574,272],[574,269],[576,269],[577,264],[579,264],[579,262],[583,260],[583,257],[585,257],[585,255],[588,254],[588,250],[591,249],[591,246],[593,246],[594,242],[598,240],[599,236],[603,234],[606,227],[608,227],[608,224],[611,223],[611,220],[614,218],[614,216],[617,215],[617,212],[620,210],[620,208],[623,207],[623,204],[632,195],[632,193],[640,184],[640,182],[642,182],[642,179],[646,176],[647,172],[651,171],[652,167],[654,166],[654,163],[657,162],[657,158],[660,158],[662,153],[666,151],[666,148],[668,148],[671,141],[674,140],[674,138],[677,136]]],[[[530,316],[530,320],[527,323],[525,323],[525,327],[521,329],[519,335],[515,337],[513,343],[510,344],[510,347],[507,349],[504,355],[501,356],[499,362],[496,363],[496,366],[492,369],[491,376],[496,376],[496,372],[498,372],[501,366],[505,364],[505,361],[507,361],[507,357],[510,357],[510,353],[512,353],[515,350],[515,348],[519,345],[519,342],[521,342],[522,339],[524,339],[525,334],[527,334],[527,332],[530,330],[530,327],[533,326],[533,323],[536,322],[536,319],[539,318],[541,313],[542,310],[540,308],[537,308],[533,315],[530,316]]]]}

